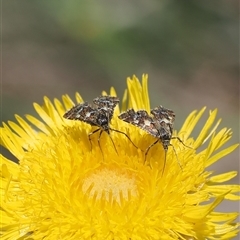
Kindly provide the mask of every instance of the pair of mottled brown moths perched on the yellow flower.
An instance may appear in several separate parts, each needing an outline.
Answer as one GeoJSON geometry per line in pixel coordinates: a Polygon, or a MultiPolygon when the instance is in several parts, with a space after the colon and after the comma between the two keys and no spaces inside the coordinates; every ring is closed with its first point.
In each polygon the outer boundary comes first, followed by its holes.
{"type": "MultiPolygon", "coordinates": [[[[136,148],[138,148],[126,133],[110,127],[110,122],[113,117],[113,112],[116,105],[119,103],[119,99],[117,97],[112,97],[112,96],[102,96],[102,97],[93,99],[93,103],[95,106],[91,106],[87,102],[77,104],[76,106],[71,108],[69,111],[67,111],[63,115],[63,117],[71,120],[83,121],[90,124],[91,126],[98,127],[98,129],[91,132],[88,135],[88,137],[91,143],[91,135],[100,131],[99,137],[98,137],[98,144],[100,149],[101,149],[100,137],[102,133],[106,132],[110,136],[110,131],[124,134],[131,141],[131,143],[136,148]]],[[[148,112],[145,110],[135,111],[133,109],[129,109],[118,116],[119,119],[127,123],[130,123],[136,127],[139,127],[145,130],[148,134],[157,138],[157,140],[155,140],[145,150],[145,161],[146,161],[146,156],[148,154],[148,151],[156,143],[158,142],[162,143],[163,148],[165,150],[165,158],[166,158],[166,152],[168,150],[168,146],[171,145],[170,140],[173,138],[177,138],[180,142],[182,142],[178,137],[172,137],[173,123],[175,120],[175,113],[172,110],[159,106],[151,110],[151,115],[149,115],[148,112]]],[[[115,144],[111,136],[110,136],[110,139],[116,150],[115,144]]]]}

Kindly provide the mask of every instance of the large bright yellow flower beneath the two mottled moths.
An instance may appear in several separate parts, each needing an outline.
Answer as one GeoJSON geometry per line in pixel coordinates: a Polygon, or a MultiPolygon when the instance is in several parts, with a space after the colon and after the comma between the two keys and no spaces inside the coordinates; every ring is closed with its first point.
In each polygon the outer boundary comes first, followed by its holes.
{"type": "MultiPolygon", "coordinates": [[[[127,79],[122,110],[150,111],[147,75],[142,84],[127,79]]],[[[103,92],[106,95],[106,92],[103,92]]],[[[112,88],[110,95],[115,96],[112,88]]],[[[76,102],[83,102],[76,94],[76,102]]],[[[117,106],[111,127],[123,135],[88,134],[96,127],[64,119],[74,105],[44,98],[34,104],[41,120],[16,116],[18,123],[3,123],[1,145],[18,160],[1,155],[1,239],[231,239],[238,233],[238,213],[214,209],[224,199],[239,200],[238,185],[225,185],[236,171],[214,175],[206,168],[237,148],[221,148],[232,132],[217,131],[217,110],[210,111],[198,137],[191,133],[205,108],[193,111],[180,131],[186,146],[172,139],[162,173],[165,152],[157,143],[145,161],[144,150],[156,139],[118,119],[117,106]],[[215,123],[214,123],[215,122],[215,123]],[[143,150],[143,151],[142,151],[143,150]],[[175,151],[174,151],[175,150],[175,151]]]]}

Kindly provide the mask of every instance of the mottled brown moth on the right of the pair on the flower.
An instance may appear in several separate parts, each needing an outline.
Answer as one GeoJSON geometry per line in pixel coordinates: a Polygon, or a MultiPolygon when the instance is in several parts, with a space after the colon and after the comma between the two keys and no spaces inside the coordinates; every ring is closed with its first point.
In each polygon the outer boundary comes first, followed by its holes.
{"type": "Polygon", "coordinates": [[[150,144],[145,150],[145,161],[149,150],[156,143],[160,142],[165,150],[165,159],[163,166],[164,172],[168,147],[172,146],[170,143],[171,139],[178,139],[181,143],[183,142],[179,137],[172,136],[173,124],[175,120],[175,113],[172,110],[158,106],[154,109],[151,109],[150,113],[151,115],[149,115],[145,110],[134,111],[133,109],[129,109],[126,112],[121,113],[118,118],[143,129],[153,137],[157,138],[157,140],[150,144]]]}

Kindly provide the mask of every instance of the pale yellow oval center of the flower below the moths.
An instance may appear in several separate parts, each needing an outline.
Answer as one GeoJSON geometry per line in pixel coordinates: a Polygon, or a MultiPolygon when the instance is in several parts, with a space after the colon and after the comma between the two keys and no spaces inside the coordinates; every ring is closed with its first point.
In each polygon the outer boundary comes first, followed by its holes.
{"type": "Polygon", "coordinates": [[[137,178],[127,169],[100,167],[84,179],[82,191],[96,200],[121,203],[138,195],[137,178]]]}

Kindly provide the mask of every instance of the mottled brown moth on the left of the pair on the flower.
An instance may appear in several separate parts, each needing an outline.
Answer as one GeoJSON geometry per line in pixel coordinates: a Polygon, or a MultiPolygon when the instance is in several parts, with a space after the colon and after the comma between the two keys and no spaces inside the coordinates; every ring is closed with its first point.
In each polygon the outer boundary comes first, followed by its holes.
{"type": "Polygon", "coordinates": [[[119,103],[119,99],[117,97],[112,96],[101,96],[94,98],[93,103],[94,103],[93,106],[87,102],[77,104],[76,106],[72,107],[69,111],[67,111],[63,115],[63,117],[70,120],[83,121],[90,124],[91,126],[98,127],[96,130],[88,134],[88,139],[90,141],[92,148],[91,135],[100,131],[98,136],[98,145],[100,147],[102,154],[103,151],[100,145],[100,138],[103,132],[106,132],[110,136],[110,139],[116,152],[117,149],[110,135],[110,131],[118,132],[125,135],[131,141],[134,147],[137,148],[137,146],[132,142],[132,140],[126,133],[110,127],[110,122],[113,117],[114,109],[116,105],[119,103]]]}

